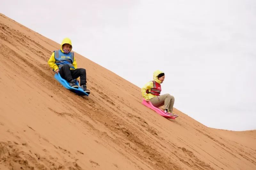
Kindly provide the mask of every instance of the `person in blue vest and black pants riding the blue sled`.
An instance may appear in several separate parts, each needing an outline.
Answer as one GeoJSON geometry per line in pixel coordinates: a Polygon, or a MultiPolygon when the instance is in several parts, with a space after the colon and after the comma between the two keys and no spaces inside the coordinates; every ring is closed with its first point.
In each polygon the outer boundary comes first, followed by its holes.
{"type": "Polygon", "coordinates": [[[63,39],[60,50],[52,53],[48,64],[60,76],[69,82],[73,88],[78,88],[75,79],[80,81],[81,88],[90,94],[90,90],[86,87],[86,70],[84,68],[77,68],[74,52],[71,52],[72,43],[69,38],[63,39]],[[80,79],[79,79],[80,77],[80,79]]]}

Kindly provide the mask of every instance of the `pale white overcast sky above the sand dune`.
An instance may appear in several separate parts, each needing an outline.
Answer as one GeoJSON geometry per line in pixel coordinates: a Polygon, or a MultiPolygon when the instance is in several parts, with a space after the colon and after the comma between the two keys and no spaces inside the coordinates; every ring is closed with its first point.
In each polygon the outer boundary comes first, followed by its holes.
{"type": "MultiPolygon", "coordinates": [[[[157,69],[174,107],[219,129],[256,129],[256,1],[0,0],[1,13],[142,87],[157,69]]],[[[50,57],[50,56],[49,56],[50,57]]],[[[79,63],[78,63],[79,67],[79,63]]]]}

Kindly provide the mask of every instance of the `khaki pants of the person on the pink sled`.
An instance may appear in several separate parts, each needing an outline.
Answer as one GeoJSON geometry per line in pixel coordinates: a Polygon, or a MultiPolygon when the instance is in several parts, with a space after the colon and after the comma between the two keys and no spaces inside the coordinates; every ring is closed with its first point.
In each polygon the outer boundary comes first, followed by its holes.
{"type": "Polygon", "coordinates": [[[174,97],[171,96],[170,94],[164,94],[164,95],[153,97],[152,99],[150,99],[150,102],[155,107],[160,107],[164,105],[164,109],[168,109],[169,112],[172,113],[174,97]]]}

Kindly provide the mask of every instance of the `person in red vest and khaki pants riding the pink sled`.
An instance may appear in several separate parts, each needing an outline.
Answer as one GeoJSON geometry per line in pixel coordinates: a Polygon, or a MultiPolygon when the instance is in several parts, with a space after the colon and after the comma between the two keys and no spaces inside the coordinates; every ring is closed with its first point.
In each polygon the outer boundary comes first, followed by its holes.
{"type": "Polygon", "coordinates": [[[141,88],[142,96],[147,102],[150,101],[155,107],[164,106],[164,113],[167,115],[178,117],[179,115],[172,113],[174,97],[170,94],[160,95],[162,90],[161,83],[164,82],[164,78],[164,73],[160,70],[156,70],[153,74],[153,81],[149,81],[141,88]]]}

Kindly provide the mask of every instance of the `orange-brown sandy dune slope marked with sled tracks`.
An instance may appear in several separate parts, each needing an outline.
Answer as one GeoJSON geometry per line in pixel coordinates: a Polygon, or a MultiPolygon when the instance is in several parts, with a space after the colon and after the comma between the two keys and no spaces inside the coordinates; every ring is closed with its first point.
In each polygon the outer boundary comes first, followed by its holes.
{"type": "Polygon", "coordinates": [[[75,53],[92,92],[77,96],[47,64],[58,48],[0,14],[1,170],[256,169],[255,130],[208,128],[176,109],[165,119],[139,87],[75,53]]]}

